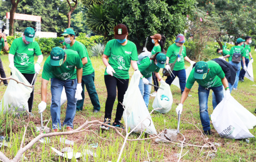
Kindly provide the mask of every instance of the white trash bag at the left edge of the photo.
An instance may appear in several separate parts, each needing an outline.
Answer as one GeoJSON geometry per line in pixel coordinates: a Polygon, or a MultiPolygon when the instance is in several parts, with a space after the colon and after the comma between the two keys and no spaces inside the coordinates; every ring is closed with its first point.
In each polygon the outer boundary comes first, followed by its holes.
{"type": "MultiPolygon", "coordinates": [[[[12,78],[26,85],[31,85],[17,68],[11,68],[11,73],[12,78]]],[[[28,111],[28,99],[32,91],[33,89],[31,87],[18,84],[15,80],[10,79],[2,101],[0,102],[0,110],[3,111],[3,113],[21,113],[28,111]]]]}

